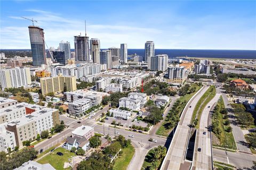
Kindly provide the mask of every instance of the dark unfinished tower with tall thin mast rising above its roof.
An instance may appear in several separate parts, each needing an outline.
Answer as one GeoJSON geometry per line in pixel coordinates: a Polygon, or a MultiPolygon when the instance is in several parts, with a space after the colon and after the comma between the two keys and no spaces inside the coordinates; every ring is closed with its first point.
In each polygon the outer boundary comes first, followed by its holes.
{"type": "Polygon", "coordinates": [[[75,41],[76,60],[89,62],[90,60],[89,37],[74,36],[74,41],[75,41]]]}

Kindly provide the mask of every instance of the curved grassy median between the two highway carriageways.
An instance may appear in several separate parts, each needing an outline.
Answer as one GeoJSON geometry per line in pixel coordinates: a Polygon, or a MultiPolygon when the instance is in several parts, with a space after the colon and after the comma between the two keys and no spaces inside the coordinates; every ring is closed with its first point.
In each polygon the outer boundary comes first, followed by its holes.
{"type": "MultiPolygon", "coordinates": [[[[193,124],[193,122],[196,118],[198,119],[198,123],[200,122],[200,118],[201,118],[204,108],[206,107],[207,103],[209,103],[214,98],[215,94],[216,94],[216,88],[215,88],[215,86],[211,86],[202,95],[202,97],[196,103],[196,107],[193,111],[193,116],[192,116],[190,124],[193,124]]],[[[198,123],[196,125],[197,128],[199,127],[198,123]]]]}

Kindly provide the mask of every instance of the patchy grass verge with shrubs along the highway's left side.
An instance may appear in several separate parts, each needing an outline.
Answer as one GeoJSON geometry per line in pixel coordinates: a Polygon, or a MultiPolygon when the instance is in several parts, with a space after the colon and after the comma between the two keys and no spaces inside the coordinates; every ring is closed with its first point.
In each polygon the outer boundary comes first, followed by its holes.
{"type": "MultiPolygon", "coordinates": [[[[194,93],[190,93],[190,94],[186,94],[185,96],[181,96],[178,100],[180,100],[181,103],[183,103],[184,101],[187,102],[189,101],[189,99],[191,99],[193,97],[194,94],[196,94],[196,92],[201,88],[202,86],[196,86],[196,91],[194,93]]],[[[185,105],[180,106],[180,110],[182,112],[182,110],[185,108],[185,105]]],[[[180,112],[180,114],[181,114],[180,112]]],[[[172,114],[171,112],[169,112],[169,114],[172,114]]],[[[167,128],[168,122],[166,121],[166,119],[164,119],[162,125],[157,129],[156,134],[157,135],[161,135],[161,136],[169,136],[169,134],[171,133],[172,129],[167,128]]]]}

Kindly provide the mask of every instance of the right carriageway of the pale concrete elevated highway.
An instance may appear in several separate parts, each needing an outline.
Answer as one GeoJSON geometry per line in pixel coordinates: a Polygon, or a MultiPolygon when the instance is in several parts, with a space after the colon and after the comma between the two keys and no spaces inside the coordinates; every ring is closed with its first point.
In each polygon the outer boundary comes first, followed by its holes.
{"type": "Polygon", "coordinates": [[[212,169],[211,134],[207,128],[210,125],[210,111],[213,110],[219,98],[220,94],[216,94],[214,98],[207,103],[201,115],[199,129],[196,134],[195,157],[193,159],[193,166],[198,170],[212,169]],[[204,132],[206,134],[203,134],[204,132]],[[201,152],[197,150],[198,148],[201,148],[201,152]]]}

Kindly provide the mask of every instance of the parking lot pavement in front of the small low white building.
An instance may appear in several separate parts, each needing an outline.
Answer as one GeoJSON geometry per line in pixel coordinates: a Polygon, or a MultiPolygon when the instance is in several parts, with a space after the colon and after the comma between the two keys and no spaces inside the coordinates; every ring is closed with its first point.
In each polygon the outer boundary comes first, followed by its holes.
{"type": "Polygon", "coordinates": [[[136,125],[136,126],[141,126],[141,127],[146,127],[147,126],[147,123],[145,123],[143,121],[140,121],[140,123],[138,123],[137,120],[134,120],[134,122],[132,122],[132,120],[134,118],[130,118],[128,120],[117,119],[117,118],[114,118],[114,117],[107,117],[107,118],[108,118],[108,120],[105,119],[105,123],[107,123],[107,124],[111,124],[115,120],[116,124],[120,123],[124,127],[129,127],[129,126],[132,126],[133,124],[136,125]]]}

